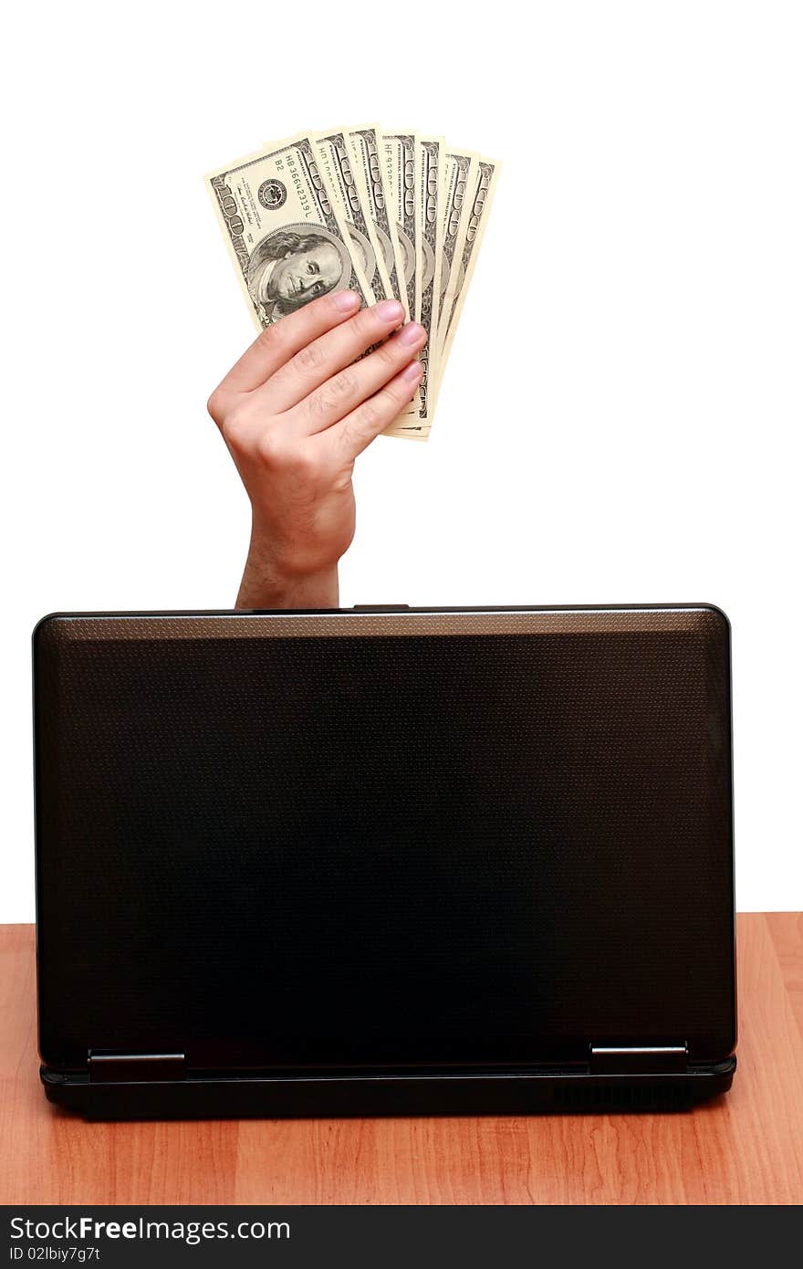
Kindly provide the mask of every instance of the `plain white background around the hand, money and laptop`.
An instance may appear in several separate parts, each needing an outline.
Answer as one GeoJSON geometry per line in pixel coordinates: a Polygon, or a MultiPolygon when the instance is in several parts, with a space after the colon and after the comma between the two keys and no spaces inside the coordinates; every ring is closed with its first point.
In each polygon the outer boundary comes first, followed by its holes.
{"type": "Polygon", "coordinates": [[[341,603],[722,605],[737,906],[803,907],[802,15],[9,11],[0,920],[33,919],[36,621],[235,602],[247,503],[206,400],[254,332],[200,173],[370,118],[505,166],[430,443],[358,459],[341,603]]]}

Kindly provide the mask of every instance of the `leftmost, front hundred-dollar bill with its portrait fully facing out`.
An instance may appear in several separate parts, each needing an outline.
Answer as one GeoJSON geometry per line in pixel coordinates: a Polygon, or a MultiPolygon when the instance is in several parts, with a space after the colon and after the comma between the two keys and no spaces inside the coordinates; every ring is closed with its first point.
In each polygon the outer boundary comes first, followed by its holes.
{"type": "Polygon", "coordinates": [[[310,137],[208,173],[206,184],[259,329],[330,291],[356,291],[370,303],[310,137]]]}

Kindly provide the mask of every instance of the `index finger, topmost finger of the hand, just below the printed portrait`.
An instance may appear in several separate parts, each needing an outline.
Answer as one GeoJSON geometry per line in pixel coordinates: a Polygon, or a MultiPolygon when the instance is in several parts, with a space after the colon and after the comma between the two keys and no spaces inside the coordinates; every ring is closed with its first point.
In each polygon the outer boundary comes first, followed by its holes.
{"type": "Polygon", "coordinates": [[[355,291],[335,291],[312,299],[260,331],[254,343],[221,381],[217,392],[252,392],[299,349],[339,326],[360,306],[355,291]]]}

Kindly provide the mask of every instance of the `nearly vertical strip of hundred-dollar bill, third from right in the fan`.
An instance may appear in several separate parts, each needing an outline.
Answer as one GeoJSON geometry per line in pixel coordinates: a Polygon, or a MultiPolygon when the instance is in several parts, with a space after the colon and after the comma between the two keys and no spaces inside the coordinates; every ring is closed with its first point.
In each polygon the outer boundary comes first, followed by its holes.
{"type": "Polygon", "coordinates": [[[430,406],[435,401],[435,381],[438,374],[438,310],[440,306],[440,258],[443,247],[443,220],[440,198],[443,192],[445,143],[440,137],[416,138],[417,169],[417,260],[416,260],[416,321],[424,326],[428,343],[421,350],[424,378],[419,392],[421,405],[419,418],[430,416],[430,406]],[[431,400],[430,400],[431,383],[431,400]]]}

